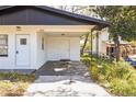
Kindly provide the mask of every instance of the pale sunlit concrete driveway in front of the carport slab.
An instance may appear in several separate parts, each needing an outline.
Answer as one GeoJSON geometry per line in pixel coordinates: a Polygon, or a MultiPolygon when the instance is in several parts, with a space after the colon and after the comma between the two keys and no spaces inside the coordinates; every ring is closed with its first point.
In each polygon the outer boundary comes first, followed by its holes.
{"type": "Polygon", "coordinates": [[[41,76],[30,86],[27,97],[110,97],[100,86],[81,76],[41,76]],[[72,79],[72,80],[70,80],[72,79]]]}

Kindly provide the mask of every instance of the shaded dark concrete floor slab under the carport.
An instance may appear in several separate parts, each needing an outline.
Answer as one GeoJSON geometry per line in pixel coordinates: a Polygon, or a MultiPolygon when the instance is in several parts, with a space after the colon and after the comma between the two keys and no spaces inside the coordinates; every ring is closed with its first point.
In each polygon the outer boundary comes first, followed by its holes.
{"type": "Polygon", "coordinates": [[[84,76],[88,68],[80,61],[47,61],[35,75],[38,76],[84,76]]]}

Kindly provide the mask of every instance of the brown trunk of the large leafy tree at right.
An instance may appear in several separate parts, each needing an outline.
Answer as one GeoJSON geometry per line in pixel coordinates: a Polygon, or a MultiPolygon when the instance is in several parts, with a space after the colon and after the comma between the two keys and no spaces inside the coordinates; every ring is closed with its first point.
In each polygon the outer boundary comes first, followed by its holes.
{"type": "Polygon", "coordinates": [[[114,38],[114,44],[115,44],[115,59],[116,61],[120,61],[120,41],[118,41],[118,35],[115,35],[114,38]]]}

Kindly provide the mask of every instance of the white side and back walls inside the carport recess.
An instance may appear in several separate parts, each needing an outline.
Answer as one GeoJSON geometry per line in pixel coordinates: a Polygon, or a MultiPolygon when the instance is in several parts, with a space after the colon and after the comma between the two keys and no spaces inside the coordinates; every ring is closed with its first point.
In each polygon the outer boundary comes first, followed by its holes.
{"type": "Polygon", "coordinates": [[[52,50],[56,50],[57,44],[50,46],[55,41],[69,41],[69,58],[71,60],[80,60],[80,38],[79,37],[53,37],[47,36],[46,33],[36,34],[36,69],[42,67],[47,60],[59,60],[52,50]],[[44,50],[42,49],[42,37],[44,37],[44,50]]]}

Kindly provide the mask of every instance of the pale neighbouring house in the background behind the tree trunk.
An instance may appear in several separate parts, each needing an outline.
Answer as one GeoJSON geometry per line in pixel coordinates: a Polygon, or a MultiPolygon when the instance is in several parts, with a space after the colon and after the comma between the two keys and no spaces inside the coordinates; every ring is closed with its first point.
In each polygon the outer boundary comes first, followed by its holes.
{"type": "MultiPolygon", "coordinates": [[[[95,33],[94,33],[95,34],[95,33]]],[[[135,46],[131,46],[131,43],[123,41],[121,36],[118,37],[120,41],[120,54],[122,57],[127,55],[135,55],[135,46]]],[[[98,41],[97,36],[93,35],[93,43],[92,43],[92,52],[97,54],[97,45],[99,47],[98,53],[99,55],[106,55],[106,56],[115,56],[115,44],[113,39],[110,39],[110,34],[107,32],[107,27],[103,29],[99,34],[98,41]],[[99,44],[98,44],[99,43],[99,44]]]]}

